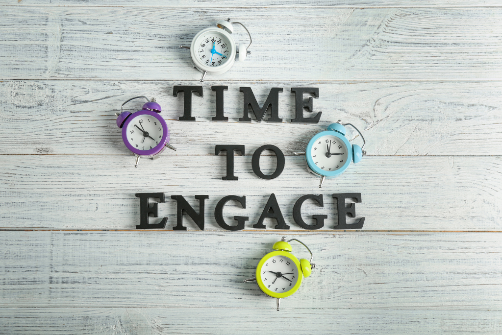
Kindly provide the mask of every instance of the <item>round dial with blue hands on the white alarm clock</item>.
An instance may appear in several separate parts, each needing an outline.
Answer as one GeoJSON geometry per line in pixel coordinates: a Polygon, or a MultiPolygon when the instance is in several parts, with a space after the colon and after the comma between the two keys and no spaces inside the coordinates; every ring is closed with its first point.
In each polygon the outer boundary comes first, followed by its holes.
{"type": "Polygon", "coordinates": [[[230,54],[230,41],[218,32],[207,32],[196,44],[197,58],[207,66],[223,65],[230,54]]]}

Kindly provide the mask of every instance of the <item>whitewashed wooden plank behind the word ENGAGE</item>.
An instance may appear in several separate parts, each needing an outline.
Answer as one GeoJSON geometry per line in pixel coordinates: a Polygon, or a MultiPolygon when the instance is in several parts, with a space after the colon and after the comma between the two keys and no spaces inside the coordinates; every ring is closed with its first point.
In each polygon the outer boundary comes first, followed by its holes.
{"type": "MultiPolygon", "coordinates": [[[[254,151],[255,148],[249,148],[254,151]]],[[[209,145],[207,152],[214,150],[209,145]]],[[[226,195],[246,196],[246,209],[229,204],[234,215],[248,216],[253,229],[270,194],[274,193],[291,229],[293,205],[306,194],[323,194],[325,207],[305,205],[307,215],[325,214],[326,231],[337,224],[333,193],[361,193],[356,219],[365,217],[366,230],[502,230],[502,164],[500,156],[381,156],[364,157],[319,189],[319,179],[305,170],[304,158],[287,156],[279,178],[262,180],[251,168],[251,156],[235,157],[238,181],[223,181],[225,156],[172,156],[144,159],[134,168],[134,156],[7,155],[2,160],[0,217],[4,228],[135,229],[140,205],[136,193],[164,192],[159,205],[166,228],[176,225],[176,201],[183,195],[195,209],[195,195],[209,195],[205,230],[223,231],[214,221],[217,202],[226,195]],[[243,215],[245,214],[245,215],[243,215]]],[[[268,159],[267,159],[268,158],[268,159]]],[[[273,164],[262,159],[265,173],[273,164]]],[[[269,219],[268,219],[269,220],[269,219]]],[[[311,219],[309,221],[312,221],[311,219]]],[[[155,221],[154,221],[155,222],[155,221]]],[[[185,219],[190,230],[198,227],[185,219]]],[[[272,229],[276,222],[267,224],[272,229]]],[[[273,230],[273,229],[272,229],[273,230]]]]}

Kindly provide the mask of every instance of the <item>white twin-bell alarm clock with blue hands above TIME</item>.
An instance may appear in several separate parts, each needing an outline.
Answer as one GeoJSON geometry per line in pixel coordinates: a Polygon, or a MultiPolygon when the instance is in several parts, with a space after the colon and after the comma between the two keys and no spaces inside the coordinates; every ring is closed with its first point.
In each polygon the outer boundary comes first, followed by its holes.
{"type": "Polygon", "coordinates": [[[190,49],[190,57],[192,65],[202,72],[200,81],[204,81],[205,76],[209,74],[222,74],[228,71],[238,55],[238,61],[243,62],[246,55],[251,52],[247,49],[253,42],[251,35],[249,35],[249,45],[246,47],[244,43],[239,43],[238,48],[233,40],[232,24],[239,24],[244,27],[240,22],[230,23],[230,19],[220,20],[216,22],[216,27],[206,28],[201,30],[195,35],[192,44],[187,46],[180,45],[180,48],[190,49]]]}

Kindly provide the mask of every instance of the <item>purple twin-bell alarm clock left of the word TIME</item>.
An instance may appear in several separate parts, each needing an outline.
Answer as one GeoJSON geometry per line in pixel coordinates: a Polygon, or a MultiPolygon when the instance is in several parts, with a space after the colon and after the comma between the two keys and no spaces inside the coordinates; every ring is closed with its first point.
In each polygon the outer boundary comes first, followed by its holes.
{"type": "Polygon", "coordinates": [[[120,106],[120,113],[116,113],[117,126],[122,128],[122,141],[127,148],[136,155],[138,167],[140,157],[158,158],[166,147],[176,150],[169,142],[169,129],[166,121],[159,115],[161,106],[155,98],[148,100],[145,96],[131,98],[120,106]],[[122,106],[133,99],[145,98],[148,102],[137,112],[122,112],[122,106]]]}

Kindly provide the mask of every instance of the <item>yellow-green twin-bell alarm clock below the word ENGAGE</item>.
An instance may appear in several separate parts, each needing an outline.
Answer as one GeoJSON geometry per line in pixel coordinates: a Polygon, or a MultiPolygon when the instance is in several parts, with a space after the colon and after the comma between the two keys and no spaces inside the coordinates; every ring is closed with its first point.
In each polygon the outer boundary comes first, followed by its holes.
{"type": "Polygon", "coordinates": [[[302,284],[303,277],[310,276],[315,264],[312,263],[314,256],[310,249],[296,238],[286,241],[283,237],[281,241],[274,243],[272,249],[276,251],[269,252],[258,263],[256,277],[245,279],[244,282],[256,280],[265,294],[277,299],[279,310],[280,299],[295,293],[302,284]],[[307,248],[310,261],[303,258],[298,260],[291,254],[291,241],[297,241],[307,248]]]}

